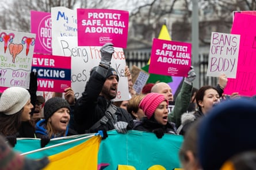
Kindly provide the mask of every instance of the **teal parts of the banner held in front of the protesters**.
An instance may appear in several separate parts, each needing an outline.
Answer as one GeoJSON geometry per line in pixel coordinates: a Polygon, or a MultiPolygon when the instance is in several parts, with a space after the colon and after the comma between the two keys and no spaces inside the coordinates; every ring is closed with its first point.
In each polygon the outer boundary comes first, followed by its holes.
{"type": "MultiPolygon", "coordinates": [[[[51,140],[46,147],[79,137],[84,136],[51,140]]],[[[31,153],[26,157],[39,159],[44,156],[55,155],[81,144],[85,140],[87,139],[31,153]]],[[[109,131],[108,138],[102,140],[100,144],[98,169],[160,169],[157,168],[159,165],[165,169],[180,168],[178,152],[182,142],[183,136],[179,135],[165,134],[162,139],[158,139],[154,133],[142,131],[128,131],[126,134],[117,133],[115,130],[109,131]]],[[[14,149],[24,153],[39,148],[40,140],[22,139],[17,141],[14,149]]]]}

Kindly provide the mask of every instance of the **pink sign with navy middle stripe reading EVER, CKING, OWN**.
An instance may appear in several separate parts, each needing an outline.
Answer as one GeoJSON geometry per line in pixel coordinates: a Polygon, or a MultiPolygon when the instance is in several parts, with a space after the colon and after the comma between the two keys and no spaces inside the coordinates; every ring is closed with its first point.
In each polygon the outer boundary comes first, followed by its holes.
{"type": "Polygon", "coordinates": [[[34,54],[32,72],[37,72],[37,91],[64,92],[71,87],[71,57],[34,54]]]}

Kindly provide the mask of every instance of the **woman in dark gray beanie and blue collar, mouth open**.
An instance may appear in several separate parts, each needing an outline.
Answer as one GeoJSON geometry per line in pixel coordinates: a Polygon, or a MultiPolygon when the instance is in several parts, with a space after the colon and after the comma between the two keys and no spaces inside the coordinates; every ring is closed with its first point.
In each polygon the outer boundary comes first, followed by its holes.
{"type": "Polygon", "coordinates": [[[36,136],[41,139],[76,135],[68,128],[70,105],[61,97],[53,97],[45,102],[44,118],[36,124],[36,136]]]}

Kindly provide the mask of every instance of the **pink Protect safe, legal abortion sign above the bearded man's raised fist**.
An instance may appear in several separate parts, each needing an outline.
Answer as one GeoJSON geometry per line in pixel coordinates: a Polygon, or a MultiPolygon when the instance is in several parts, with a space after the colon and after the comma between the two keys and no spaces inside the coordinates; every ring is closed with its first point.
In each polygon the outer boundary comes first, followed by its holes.
{"type": "Polygon", "coordinates": [[[102,46],[112,42],[126,48],[129,12],[110,9],[77,9],[78,46],[102,46]]]}

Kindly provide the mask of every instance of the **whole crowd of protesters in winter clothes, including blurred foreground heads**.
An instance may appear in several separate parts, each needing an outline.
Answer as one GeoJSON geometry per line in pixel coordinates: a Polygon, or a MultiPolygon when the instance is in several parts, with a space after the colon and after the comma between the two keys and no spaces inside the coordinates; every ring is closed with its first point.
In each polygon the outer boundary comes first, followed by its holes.
{"type": "MultiPolygon", "coordinates": [[[[109,130],[127,133],[133,129],[155,133],[158,139],[165,133],[184,135],[179,152],[184,169],[219,169],[230,164],[233,169],[239,169],[237,166],[246,161],[255,164],[256,145],[251,131],[255,126],[256,103],[234,100],[239,98],[238,93],[225,98],[225,74],[219,76],[216,86],[196,89],[193,88],[196,73],[192,66],[170,110],[169,105],[174,101],[170,86],[165,82],[146,84],[142,93],[136,94],[127,67],[130,99],[113,102],[120,80],[110,66],[113,44],[105,44],[100,52],[101,61],[91,69],[79,98],[74,97],[72,88],[67,88],[64,97],[56,93],[45,101],[43,96],[36,95],[36,73],[30,74],[28,90],[21,87],[4,90],[0,97],[0,134],[5,138],[0,138],[0,144],[6,140],[14,147],[18,137],[30,137],[40,138],[41,147],[45,147],[55,137],[101,130],[106,138],[109,130]],[[237,156],[239,153],[243,155],[237,156]],[[251,155],[251,159],[246,154],[251,155]],[[213,160],[212,155],[218,159],[213,160]]],[[[40,161],[47,163],[47,160],[40,161]]]]}

